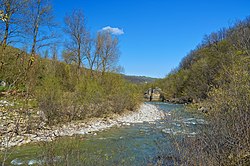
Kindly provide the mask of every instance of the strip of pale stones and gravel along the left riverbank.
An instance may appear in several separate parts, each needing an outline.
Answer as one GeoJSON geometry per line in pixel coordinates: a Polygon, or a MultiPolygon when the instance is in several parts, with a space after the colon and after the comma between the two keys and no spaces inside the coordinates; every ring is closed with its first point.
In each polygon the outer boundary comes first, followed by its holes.
{"type": "MultiPolygon", "coordinates": [[[[106,118],[93,118],[88,121],[75,121],[52,127],[43,126],[41,129],[31,131],[30,133],[23,132],[16,134],[15,132],[10,132],[10,129],[7,128],[6,132],[1,134],[0,148],[4,149],[13,146],[20,146],[31,142],[52,141],[57,137],[63,136],[73,136],[78,134],[96,135],[97,131],[106,130],[114,126],[119,127],[122,125],[130,125],[132,123],[152,122],[162,119],[165,116],[165,113],[157,109],[156,106],[144,103],[136,112],[126,112],[123,115],[115,114],[106,118]]],[[[16,127],[15,124],[8,125],[16,127]]],[[[5,125],[0,122],[0,127],[3,128],[4,126],[5,125]]]]}

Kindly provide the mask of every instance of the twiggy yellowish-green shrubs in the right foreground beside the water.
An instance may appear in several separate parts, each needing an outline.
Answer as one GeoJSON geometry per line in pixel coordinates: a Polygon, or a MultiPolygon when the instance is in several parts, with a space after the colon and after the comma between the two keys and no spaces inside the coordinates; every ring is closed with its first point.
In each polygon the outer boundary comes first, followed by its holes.
{"type": "MultiPolygon", "coordinates": [[[[213,88],[203,102],[211,108],[209,126],[194,142],[189,156],[208,165],[250,164],[250,59],[235,58],[234,64],[226,67],[221,79],[227,79],[220,88],[213,88]]],[[[203,165],[203,164],[201,164],[203,165]]]]}

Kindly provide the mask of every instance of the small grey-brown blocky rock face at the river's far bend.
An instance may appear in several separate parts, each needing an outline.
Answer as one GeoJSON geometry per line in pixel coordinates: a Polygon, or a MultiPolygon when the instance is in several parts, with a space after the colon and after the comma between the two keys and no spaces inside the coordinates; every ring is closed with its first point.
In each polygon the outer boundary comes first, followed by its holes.
{"type": "Polygon", "coordinates": [[[162,95],[162,90],[158,87],[149,88],[144,93],[144,98],[148,101],[163,101],[164,100],[164,97],[162,95]]]}

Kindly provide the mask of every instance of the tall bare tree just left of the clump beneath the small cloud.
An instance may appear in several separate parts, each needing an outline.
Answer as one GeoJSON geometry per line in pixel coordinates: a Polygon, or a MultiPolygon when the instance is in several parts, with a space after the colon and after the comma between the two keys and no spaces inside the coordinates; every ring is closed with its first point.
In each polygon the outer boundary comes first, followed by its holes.
{"type": "Polygon", "coordinates": [[[80,75],[80,69],[83,64],[84,58],[86,58],[86,51],[89,47],[88,31],[85,26],[85,17],[81,10],[74,10],[70,15],[65,17],[64,31],[70,37],[66,42],[66,50],[73,56],[74,62],[77,64],[78,74],[80,75]]]}

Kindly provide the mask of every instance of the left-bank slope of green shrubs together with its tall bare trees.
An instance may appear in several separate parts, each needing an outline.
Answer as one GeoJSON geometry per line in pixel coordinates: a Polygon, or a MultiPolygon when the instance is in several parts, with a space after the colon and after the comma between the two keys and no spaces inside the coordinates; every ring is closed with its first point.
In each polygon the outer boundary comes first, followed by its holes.
{"type": "Polygon", "coordinates": [[[118,74],[119,40],[111,32],[92,37],[81,10],[59,26],[50,1],[1,0],[0,9],[1,94],[22,102],[22,112],[32,103],[54,124],[136,109],[140,90],[118,74]]]}

